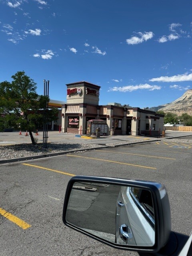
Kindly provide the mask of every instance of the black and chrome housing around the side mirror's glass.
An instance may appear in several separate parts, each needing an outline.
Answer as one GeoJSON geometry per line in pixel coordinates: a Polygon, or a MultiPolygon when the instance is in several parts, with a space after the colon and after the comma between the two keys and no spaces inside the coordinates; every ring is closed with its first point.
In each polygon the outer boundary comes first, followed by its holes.
{"type": "MultiPolygon", "coordinates": [[[[86,198],[84,198],[86,200],[86,198]]],[[[105,178],[96,176],[75,176],[70,179],[66,189],[66,195],[64,200],[63,208],[63,222],[66,226],[73,228],[83,234],[90,236],[100,242],[108,244],[114,248],[124,249],[124,250],[136,250],[138,252],[148,252],[155,253],[158,252],[162,247],[166,245],[170,238],[171,232],[171,216],[170,216],[170,205],[168,200],[168,194],[166,188],[157,182],[148,182],[140,180],[126,180],[119,178],[105,178]],[[90,182],[94,184],[108,184],[108,185],[118,185],[126,187],[135,187],[142,190],[148,190],[151,193],[154,208],[154,219],[155,219],[155,242],[153,246],[138,246],[138,245],[128,245],[128,244],[116,244],[100,236],[88,232],[85,228],[80,228],[66,219],[66,213],[68,209],[68,202],[70,194],[72,192],[72,187],[75,182],[90,182]]]]}

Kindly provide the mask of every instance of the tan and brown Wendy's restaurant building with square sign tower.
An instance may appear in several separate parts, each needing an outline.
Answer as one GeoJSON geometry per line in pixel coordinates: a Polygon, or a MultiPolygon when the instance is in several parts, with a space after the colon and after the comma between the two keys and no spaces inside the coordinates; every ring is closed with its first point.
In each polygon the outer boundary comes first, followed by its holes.
{"type": "Polygon", "coordinates": [[[162,133],[162,114],[117,103],[99,105],[100,86],[85,81],[66,86],[67,101],[62,104],[61,114],[62,132],[86,134],[89,120],[104,120],[106,135],[155,136],[162,133]]]}

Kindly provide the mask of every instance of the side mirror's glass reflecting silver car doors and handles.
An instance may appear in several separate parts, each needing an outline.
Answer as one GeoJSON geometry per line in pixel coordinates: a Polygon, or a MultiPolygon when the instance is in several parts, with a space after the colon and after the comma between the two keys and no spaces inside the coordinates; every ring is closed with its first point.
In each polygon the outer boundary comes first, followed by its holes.
{"type": "Polygon", "coordinates": [[[155,244],[152,194],[138,187],[75,182],[66,222],[115,244],[155,244]]]}

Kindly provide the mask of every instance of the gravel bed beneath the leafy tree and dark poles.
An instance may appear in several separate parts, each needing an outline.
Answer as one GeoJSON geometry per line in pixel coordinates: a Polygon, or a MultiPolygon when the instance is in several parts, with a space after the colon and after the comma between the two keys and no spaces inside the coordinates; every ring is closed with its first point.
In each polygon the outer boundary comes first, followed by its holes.
{"type": "Polygon", "coordinates": [[[42,143],[38,143],[37,145],[15,144],[0,146],[0,160],[20,158],[25,156],[42,155],[48,153],[58,153],[70,150],[86,150],[89,148],[103,147],[102,145],[75,142],[51,142],[48,143],[47,146],[47,148],[43,148],[42,143]]]}

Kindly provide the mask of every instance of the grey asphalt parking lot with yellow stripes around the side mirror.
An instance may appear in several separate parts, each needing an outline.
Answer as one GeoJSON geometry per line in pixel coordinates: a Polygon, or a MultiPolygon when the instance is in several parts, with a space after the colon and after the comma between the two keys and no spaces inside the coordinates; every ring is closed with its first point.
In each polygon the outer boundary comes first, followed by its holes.
{"type": "MultiPolygon", "coordinates": [[[[62,222],[68,180],[92,175],[164,184],[172,230],[192,230],[192,143],[172,140],[96,149],[0,165],[2,255],[125,255],[62,222]]],[[[138,255],[126,252],[126,255],[138,255]]]]}

